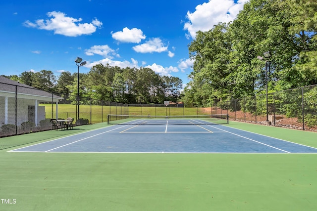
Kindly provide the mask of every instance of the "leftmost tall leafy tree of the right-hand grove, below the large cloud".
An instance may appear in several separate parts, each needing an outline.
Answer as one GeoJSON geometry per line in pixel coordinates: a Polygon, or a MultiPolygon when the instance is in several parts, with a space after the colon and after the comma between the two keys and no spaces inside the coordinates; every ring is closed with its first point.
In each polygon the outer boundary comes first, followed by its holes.
{"type": "Polygon", "coordinates": [[[231,38],[228,26],[219,23],[208,32],[197,32],[196,40],[189,45],[190,58],[194,60],[191,88],[198,92],[196,102],[211,106],[215,98],[223,98],[230,89],[228,81],[231,38]]]}

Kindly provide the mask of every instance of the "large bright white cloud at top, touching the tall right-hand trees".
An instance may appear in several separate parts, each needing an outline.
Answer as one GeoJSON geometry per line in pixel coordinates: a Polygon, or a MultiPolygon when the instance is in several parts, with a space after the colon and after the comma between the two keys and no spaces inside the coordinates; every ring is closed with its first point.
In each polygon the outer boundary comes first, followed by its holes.
{"type": "Polygon", "coordinates": [[[186,15],[189,20],[184,24],[184,30],[189,33],[187,37],[195,39],[198,31],[206,32],[219,22],[233,21],[247,1],[249,0],[238,0],[234,3],[234,0],[209,0],[197,5],[193,13],[188,11],[186,15]]]}

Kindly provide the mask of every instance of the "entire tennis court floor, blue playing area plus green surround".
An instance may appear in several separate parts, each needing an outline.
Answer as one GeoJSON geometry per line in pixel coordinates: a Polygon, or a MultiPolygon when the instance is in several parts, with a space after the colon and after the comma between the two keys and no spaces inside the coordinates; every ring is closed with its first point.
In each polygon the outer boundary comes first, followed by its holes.
{"type": "Polygon", "coordinates": [[[0,210],[314,211],[317,206],[314,132],[145,117],[1,141],[22,139],[34,143],[0,150],[0,210]]]}

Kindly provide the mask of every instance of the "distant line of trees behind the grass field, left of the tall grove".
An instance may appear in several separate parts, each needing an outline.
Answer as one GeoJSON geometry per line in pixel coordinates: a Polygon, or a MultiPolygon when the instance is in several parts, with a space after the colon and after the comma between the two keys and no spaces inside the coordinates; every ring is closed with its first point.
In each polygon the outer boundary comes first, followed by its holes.
{"type": "MultiPolygon", "coordinates": [[[[35,88],[61,93],[76,103],[77,73],[62,72],[55,77],[50,70],[23,72],[19,76],[4,76],[35,88]]],[[[79,73],[79,96],[95,100],[127,104],[163,104],[164,100],[177,102],[181,98],[182,80],[160,76],[150,68],[120,68],[97,64],[85,73],[79,73]]]]}

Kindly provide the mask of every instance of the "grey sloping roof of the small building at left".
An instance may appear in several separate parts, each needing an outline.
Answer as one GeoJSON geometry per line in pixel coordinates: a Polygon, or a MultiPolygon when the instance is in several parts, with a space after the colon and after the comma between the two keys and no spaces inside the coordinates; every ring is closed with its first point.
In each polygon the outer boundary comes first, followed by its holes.
{"type": "Polygon", "coordinates": [[[52,93],[50,92],[43,91],[26,84],[20,84],[19,82],[0,76],[0,92],[6,92],[8,95],[12,93],[15,94],[15,88],[19,94],[19,98],[38,99],[41,101],[52,101],[53,98],[54,102],[59,99],[63,99],[55,94],[52,96],[52,93]]]}

